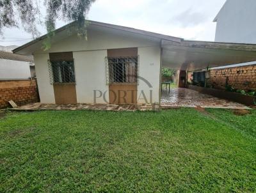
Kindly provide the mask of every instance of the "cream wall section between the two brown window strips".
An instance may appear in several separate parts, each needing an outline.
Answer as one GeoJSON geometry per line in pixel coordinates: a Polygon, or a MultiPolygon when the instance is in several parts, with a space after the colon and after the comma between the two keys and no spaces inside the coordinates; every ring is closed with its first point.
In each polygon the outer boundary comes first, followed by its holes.
{"type": "MultiPolygon", "coordinates": [[[[108,85],[106,84],[107,50],[73,52],[76,73],[77,103],[105,104],[103,94],[108,100],[108,85]]],[[[107,101],[108,102],[108,101],[107,101]]]]}

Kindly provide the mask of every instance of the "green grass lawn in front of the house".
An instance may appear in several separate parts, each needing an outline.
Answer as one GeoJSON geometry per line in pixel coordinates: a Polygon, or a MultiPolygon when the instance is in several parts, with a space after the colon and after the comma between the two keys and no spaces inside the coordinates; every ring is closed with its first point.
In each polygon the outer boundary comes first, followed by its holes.
{"type": "Polygon", "coordinates": [[[255,192],[256,111],[0,117],[0,192],[255,192]]]}

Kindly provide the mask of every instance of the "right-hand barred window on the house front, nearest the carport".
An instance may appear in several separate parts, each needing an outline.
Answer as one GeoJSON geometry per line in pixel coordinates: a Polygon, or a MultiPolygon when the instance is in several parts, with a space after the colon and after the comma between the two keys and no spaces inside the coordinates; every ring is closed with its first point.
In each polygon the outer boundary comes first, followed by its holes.
{"type": "Polygon", "coordinates": [[[138,83],[138,56],[107,57],[108,83],[138,83]]]}

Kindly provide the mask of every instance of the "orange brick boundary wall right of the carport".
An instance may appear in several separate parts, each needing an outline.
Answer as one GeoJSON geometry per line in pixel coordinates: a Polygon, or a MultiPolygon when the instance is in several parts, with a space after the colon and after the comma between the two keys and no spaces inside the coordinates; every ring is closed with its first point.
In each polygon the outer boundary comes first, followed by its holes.
{"type": "Polygon", "coordinates": [[[208,84],[225,88],[226,81],[236,89],[256,90],[256,65],[211,70],[208,84]]]}

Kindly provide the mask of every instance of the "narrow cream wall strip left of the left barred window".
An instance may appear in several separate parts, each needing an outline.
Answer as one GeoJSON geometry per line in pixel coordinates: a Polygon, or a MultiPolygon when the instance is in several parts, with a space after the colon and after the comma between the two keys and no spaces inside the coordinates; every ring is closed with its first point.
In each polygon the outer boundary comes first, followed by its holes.
{"type": "Polygon", "coordinates": [[[49,76],[48,59],[49,54],[34,55],[38,91],[42,104],[55,104],[53,86],[49,76]]]}

